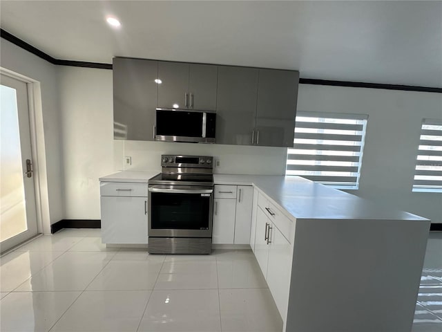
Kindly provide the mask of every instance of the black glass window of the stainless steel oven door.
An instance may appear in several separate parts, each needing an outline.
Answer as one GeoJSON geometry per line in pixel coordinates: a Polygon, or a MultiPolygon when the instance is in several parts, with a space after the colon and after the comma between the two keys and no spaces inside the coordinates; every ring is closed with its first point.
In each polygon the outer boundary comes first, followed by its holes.
{"type": "Polygon", "coordinates": [[[151,228],[157,230],[208,230],[210,197],[201,194],[151,195],[151,228]]]}

